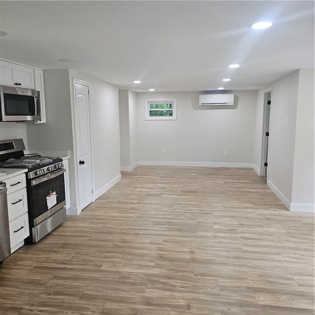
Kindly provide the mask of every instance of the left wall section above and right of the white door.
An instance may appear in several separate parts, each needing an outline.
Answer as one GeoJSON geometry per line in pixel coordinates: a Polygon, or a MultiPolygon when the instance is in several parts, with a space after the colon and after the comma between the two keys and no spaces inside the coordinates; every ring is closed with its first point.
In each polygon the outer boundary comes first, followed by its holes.
{"type": "Polygon", "coordinates": [[[91,83],[91,138],[94,194],[105,192],[120,179],[120,136],[118,87],[99,79],[70,71],[70,80],[91,83]]]}

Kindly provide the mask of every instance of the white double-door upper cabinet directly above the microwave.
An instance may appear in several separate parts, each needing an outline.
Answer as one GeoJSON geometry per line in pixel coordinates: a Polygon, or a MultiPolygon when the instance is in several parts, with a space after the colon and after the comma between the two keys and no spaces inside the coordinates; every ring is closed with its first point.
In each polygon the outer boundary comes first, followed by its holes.
{"type": "Polygon", "coordinates": [[[35,89],[34,69],[0,60],[0,84],[25,89],[35,89]]]}

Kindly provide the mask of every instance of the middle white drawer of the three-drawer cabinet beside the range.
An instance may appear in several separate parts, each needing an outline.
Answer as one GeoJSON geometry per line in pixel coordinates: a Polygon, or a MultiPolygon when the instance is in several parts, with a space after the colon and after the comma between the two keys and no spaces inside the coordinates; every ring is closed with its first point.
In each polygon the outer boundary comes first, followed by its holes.
{"type": "Polygon", "coordinates": [[[28,212],[28,197],[26,188],[12,192],[7,196],[9,221],[28,212]]]}

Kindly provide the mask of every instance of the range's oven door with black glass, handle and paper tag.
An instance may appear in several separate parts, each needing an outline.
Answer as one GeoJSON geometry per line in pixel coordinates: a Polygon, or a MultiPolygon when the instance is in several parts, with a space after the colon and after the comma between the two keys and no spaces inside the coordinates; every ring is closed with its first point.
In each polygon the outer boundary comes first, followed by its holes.
{"type": "Polygon", "coordinates": [[[65,206],[65,169],[29,180],[30,225],[35,226],[65,206]]]}

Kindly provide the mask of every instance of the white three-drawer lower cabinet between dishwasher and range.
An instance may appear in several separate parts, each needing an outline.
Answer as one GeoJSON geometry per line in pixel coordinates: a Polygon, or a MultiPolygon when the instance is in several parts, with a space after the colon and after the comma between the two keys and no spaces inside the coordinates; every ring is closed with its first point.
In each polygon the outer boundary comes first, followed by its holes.
{"type": "Polygon", "coordinates": [[[25,174],[6,180],[11,253],[30,235],[25,174]]]}

